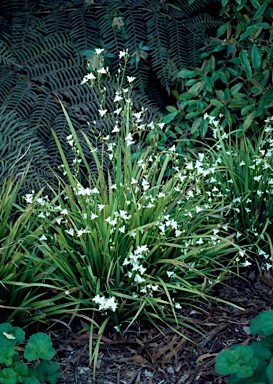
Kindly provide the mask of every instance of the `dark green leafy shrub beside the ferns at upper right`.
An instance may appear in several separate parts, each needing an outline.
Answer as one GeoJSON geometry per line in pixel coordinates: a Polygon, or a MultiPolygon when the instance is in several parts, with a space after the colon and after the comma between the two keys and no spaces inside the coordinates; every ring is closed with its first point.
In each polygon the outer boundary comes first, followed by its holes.
{"type": "Polygon", "coordinates": [[[202,48],[203,63],[182,69],[182,93],[174,91],[177,107],[165,122],[204,138],[208,124],[204,114],[220,119],[221,125],[236,127],[237,135],[256,132],[273,106],[271,0],[222,0],[221,16],[227,21],[202,48]],[[239,4],[240,3],[240,4],[239,4]]]}

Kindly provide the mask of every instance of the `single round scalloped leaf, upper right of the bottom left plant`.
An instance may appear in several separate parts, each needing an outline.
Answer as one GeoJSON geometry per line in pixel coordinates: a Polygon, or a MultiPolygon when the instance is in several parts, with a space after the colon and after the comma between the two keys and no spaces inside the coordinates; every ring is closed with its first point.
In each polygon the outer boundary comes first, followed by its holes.
{"type": "Polygon", "coordinates": [[[28,361],[36,359],[51,360],[54,355],[55,350],[48,335],[38,332],[30,336],[24,352],[25,359],[28,361]]]}

